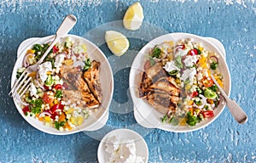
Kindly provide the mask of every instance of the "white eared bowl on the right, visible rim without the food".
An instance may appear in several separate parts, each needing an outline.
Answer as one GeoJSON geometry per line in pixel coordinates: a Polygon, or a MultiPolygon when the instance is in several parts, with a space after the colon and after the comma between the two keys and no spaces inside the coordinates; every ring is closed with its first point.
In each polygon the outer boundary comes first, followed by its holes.
{"type": "Polygon", "coordinates": [[[211,37],[199,37],[189,33],[170,33],[157,37],[151,42],[148,42],[139,53],[137,53],[136,58],[131,65],[130,72],[130,91],[131,98],[134,104],[134,115],[137,122],[147,128],[159,128],[169,132],[192,132],[201,129],[212,121],[218,118],[218,115],[224,110],[225,104],[219,104],[218,108],[214,110],[214,117],[208,118],[201,123],[196,124],[196,126],[172,126],[170,124],[162,124],[160,118],[163,117],[160,112],[155,110],[148,102],[142,98],[137,97],[137,90],[140,82],[140,73],[143,72],[143,65],[145,62],[145,54],[148,53],[149,48],[154,48],[155,45],[160,44],[165,41],[177,42],[180,39],[191,38],[194,42],[201,42],[204,48],[210,51],[214,51],[219,55],[219,70],[224,76],[224,92],[229,96],[231,81],[230,81],[230,71],[225,61],[225,51],[224,46],[218,40],[211,37]]]}

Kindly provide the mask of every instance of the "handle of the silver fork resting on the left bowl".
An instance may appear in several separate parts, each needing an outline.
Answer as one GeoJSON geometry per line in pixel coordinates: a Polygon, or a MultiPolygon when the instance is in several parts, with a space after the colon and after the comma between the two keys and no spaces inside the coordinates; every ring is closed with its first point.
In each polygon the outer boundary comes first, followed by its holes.
{"type": "Polygon", "coordinates": [[[44,61],[49,51],[55,46],[55,43],[58,42],[61,37],[64,37],[65,35],[67,35],[68,31],[70,31],[73,28],[73,25],[75,25],[76,22],[77,22],[77,19],[73,14],[67,15],[67,17],[62,21],[60,27],[56,31],[54,41],[51,42],[49,48],[47,48],[44,55],[41,57],[41,59],[38,60],[37,65],[42,64],[42,62],[44,61]]]}

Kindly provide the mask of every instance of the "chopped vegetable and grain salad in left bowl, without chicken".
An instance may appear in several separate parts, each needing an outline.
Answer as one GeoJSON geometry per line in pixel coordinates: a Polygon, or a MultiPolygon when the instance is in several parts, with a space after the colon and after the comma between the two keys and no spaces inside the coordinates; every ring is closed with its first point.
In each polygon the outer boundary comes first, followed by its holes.
{"type": "MultiPolygon", "coordinates": [[[[28,49],[22,67],[17,70],[16,78],[20,77],[26,67],[36,64],[47,48],[49,42],[34,44],[28,49]]],[[[45,126],[68,131],[80,126],[91,110],[79,107],[79,103],[82,103],[80,101],[63,100],[64,91],[70,87],[62,79],[63,66],[73,66],[81,73],[90,69],[90,57],[83,42],[66,37],[56,43],[44,62],[38,65],[38,71],[29,75],[32,77],[31,87],[18,100],[26,116],[42,121],[45,126]]]]}

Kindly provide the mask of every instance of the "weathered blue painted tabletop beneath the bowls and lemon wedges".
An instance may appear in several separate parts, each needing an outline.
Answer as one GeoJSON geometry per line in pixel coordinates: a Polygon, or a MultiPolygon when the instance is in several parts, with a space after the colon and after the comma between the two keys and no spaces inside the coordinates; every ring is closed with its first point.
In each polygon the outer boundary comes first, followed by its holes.
{"type": "Polygon", "coordinates": [[[143,30],[131,32],[119,26],[126,8],[133,2],[0,2],[0,162],[96,162],[98,139],[118,127],[132,128],[144,136],[149,162],[256,162],[254,1],[141,1],[145,15],[142,29],[149,29],[148,35],[143,34],[143,30]],[[90,38],[106,54],[116,87],[109,119],[102,130],[54,136],[38,131],[23,120],[7,94],[20,42],[28,37],[54,34],[67,14],[74,14],[79,20],[70,33],[90,38]],[[102,33],[90,35],[99,26],[102,33]],[[114,57],[109,52],[102,35],[107,29],[119,29],[130,36],[131,47],[124,56],[114,57]],[[195,132],[163,132],[137,125],[127,82],[132,59],[154,37],[177,31],[215,37],[223,42],[232,80],[230,97],[247,113],[246,124],[238,125],[225,109],[217,121],[195,132]],[[138,37],[140,35],[142,37],[138,37]]]}

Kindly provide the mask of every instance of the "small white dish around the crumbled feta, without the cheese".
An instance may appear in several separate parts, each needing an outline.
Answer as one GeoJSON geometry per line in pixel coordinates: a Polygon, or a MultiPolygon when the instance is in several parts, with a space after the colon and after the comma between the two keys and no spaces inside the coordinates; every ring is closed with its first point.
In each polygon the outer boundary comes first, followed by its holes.
{"type": "Polygon", "coordinates": [[[119,136],[121,140],[133,139],[136,145],[136,154],[137,156],[142,156],[145,158],[145,162],[148,162],[148,145],[141,135],[137,132],[134,132],[130,129],[116,129],[112,132],[108,132],[104,138],[102,138],[101,143],[99,144],[97,156],[99,163],[105,163],[108,160],[108,153],[105,151],[106,143],[108,143],[108,138],[113,136],[119,136]]]}

